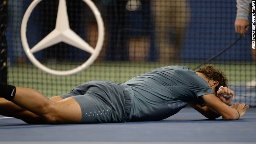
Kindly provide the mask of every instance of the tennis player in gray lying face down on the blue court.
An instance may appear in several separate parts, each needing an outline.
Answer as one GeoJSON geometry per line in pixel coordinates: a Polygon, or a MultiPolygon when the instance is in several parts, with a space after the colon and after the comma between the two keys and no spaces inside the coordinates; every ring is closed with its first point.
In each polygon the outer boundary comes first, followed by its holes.
{"type": "Polygon", "coordinates": [[[209,65],[196,72],[186,66],[166,66],[124,84],[90,81],[50,99],[30,88],[0,84],[0,114],[31,124],[153,121],[189,104],[209,119],[238,120],[249,106],[228,106],[234,92],[227,83],[223,72],[209,65]]]}

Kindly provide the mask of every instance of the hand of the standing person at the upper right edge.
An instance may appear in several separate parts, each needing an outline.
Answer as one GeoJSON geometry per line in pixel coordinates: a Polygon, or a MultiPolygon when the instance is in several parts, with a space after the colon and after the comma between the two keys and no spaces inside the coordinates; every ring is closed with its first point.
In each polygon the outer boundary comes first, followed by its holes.
{"type": "Polygon", "coordinates": [[[245,37],[246,31],[249,29],[249,24],[248,20],[244,19],[236,19],[235,21],[235,30],[236,33],[241,34],[241,36],[245,37]]]}

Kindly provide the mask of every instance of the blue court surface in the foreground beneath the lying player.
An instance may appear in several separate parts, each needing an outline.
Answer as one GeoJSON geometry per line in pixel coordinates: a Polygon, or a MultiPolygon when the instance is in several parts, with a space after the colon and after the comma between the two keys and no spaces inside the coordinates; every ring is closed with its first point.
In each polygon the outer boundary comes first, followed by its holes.
{"type": "MultiPolygon", "coordinates": [[[[0,116],[0,144],[12,143],[255,143],[256,108],[240,120],[208,120],[193,108],[162,121],[108,124],[33,125],[0,116]]],[[[23,144],[22,143],[22,144],[23,144]]]]}

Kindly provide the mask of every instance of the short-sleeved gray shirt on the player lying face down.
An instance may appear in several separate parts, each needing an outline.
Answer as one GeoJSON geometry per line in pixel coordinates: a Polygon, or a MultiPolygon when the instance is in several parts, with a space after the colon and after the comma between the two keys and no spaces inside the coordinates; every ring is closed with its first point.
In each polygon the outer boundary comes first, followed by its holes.
{"type": "Polygon", "coordinates": [[[214,94],[207,82],[187,66],[166,66],[125,82],[133,90],[130,121],[168,118],[194,98],[214,94]]]}

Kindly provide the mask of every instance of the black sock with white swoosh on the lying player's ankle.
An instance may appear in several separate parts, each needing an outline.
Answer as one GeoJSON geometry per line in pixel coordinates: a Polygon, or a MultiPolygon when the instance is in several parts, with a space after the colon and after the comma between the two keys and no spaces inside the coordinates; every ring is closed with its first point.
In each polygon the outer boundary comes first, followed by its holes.
{"type": "Polygon", "coordinates": [[[12,101],[16,93],[16,87],[0,83],[0,97],[12,101]]]}

